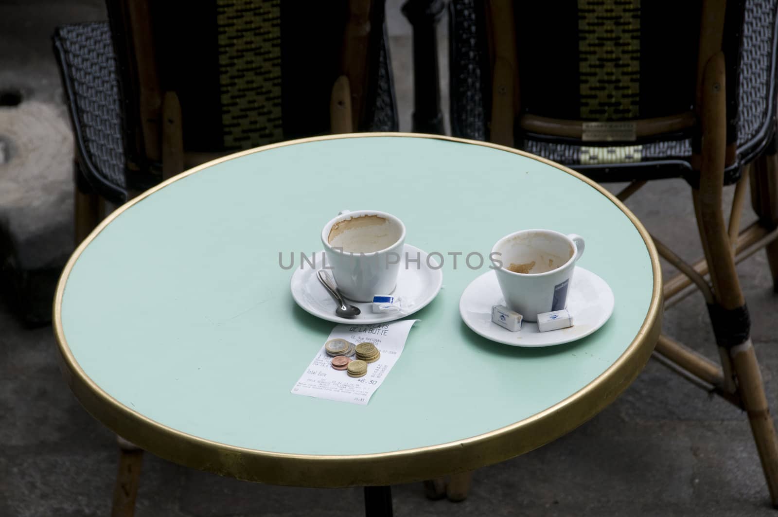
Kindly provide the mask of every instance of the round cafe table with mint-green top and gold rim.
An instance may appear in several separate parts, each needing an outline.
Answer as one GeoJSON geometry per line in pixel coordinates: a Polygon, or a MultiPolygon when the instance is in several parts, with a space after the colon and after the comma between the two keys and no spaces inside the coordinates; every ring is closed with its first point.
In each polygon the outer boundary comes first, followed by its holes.
{"type": "Polygon", "coordinates": [[[403,133],[282,142],[179,174],[100,223],[54,302],[68,385],[123,438],[243,480],[384,487],[370,498],[390,505],[391,484],[500,462],[583,424],[636,378],[660,324],[657,251],[613,195],[515,149],[403,133]],[[347,208],[392,213],[408,244],[443,255],[443,289],[411,316],[366,406],[291,392],[335,324],[297,307],[279,252],[320,251],[321,227],[347,208]],[[519,348],[461,321],[462,291],[488,271],[461,259],[524,228],[586,239],[579,266],[615,296],[591,336],[519,348]]]}

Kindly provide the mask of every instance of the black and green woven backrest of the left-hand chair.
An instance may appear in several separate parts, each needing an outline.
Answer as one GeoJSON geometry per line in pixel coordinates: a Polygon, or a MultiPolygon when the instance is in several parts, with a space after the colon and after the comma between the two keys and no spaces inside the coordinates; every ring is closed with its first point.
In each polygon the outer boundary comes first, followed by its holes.
{"type": "MultiPolygon", "coordinates": [[[[180,102],[186,153],[228,153],[330,132],[353,3],[359,2],[108,0],[128,188],[161,178],[160,103],[167,92],[180,102]]],[[[366,3],[366,94],[355,130],[396,131],[384,1],[366,3]]]]}

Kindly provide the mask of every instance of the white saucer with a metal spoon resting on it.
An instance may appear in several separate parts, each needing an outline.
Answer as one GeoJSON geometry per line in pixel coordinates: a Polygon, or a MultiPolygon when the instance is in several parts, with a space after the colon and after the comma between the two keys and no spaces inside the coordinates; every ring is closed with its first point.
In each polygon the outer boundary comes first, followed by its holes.
{"type": "MultiPolygon", "coordinates": [[[[400,274],[397,278],[397,287],[394,293],[376,293],[391,294],[394,297],[401,297],[402,311],[399,312],[373,312],[372,303],[351,302],[362,311],[356,318],[341,318],[335,315],[335,300],[332,299],[324,286],[319,283],[317,277],[318,269],[307,267],[305,269],[297,268],[292,275],[292,297],[300,305],[303,311],[306,311],[318,318],[326,319],[335,323],[356,323],[366,325],[370,323],[392,322],[395,319],[405,318],[426,307],[433,298],[436,297],[443,285],[443,270],[430,269],[427,266],[426,251],[422,251],[411,244],[405,244],[404,253],[407,253],[412,259],[415,259],[416,252],[420,254],[419,269],[416,269],[416,262],[411,262],[408,268],[403,267],[401,262],[400,274]]],[[[319,251],[317,256],[324,255],[324,251],[319,251]]],[[[434,258],[431,259],[437,262],[434,258]]]]}

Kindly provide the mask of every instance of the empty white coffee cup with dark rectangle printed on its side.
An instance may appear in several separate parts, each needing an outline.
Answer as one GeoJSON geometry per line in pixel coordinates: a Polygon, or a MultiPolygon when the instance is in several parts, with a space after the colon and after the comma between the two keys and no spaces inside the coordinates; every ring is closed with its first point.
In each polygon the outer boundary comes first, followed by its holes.
{"type": "Polygon", "coordinates": [[[567,307],[573,269],[583,254],[579,235],[521,230],[497,241],[490,257],[508,308],[534,322],[542,312],[567,307]]]}

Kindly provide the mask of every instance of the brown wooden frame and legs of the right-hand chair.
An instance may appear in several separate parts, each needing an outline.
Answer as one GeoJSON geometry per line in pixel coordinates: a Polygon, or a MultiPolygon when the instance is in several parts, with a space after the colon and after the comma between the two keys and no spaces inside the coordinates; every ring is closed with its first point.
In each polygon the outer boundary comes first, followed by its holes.
{"type": "MultiPolygon", "coordinates": [[[[513,27],[513,3],[487,2],[489,36],[492,51],[491,140],[513,146],[513,121],[520,106],[517,73],[516,38],[513,27]]],[[[696,113],[636,121],[638,135],[655,135],[697,125],[702,134],[699,163],[699,188],[692,188],[704,258],[693,264],[684,262],[654,237],[660,255],[679,273],[664,283],[665,308],[699,289],[711,314],[717,339],[720,364],[695,350],[661,335],[654,357],[694,385],[715,393],[744,410],[762,462],[770,498],[778,508],[778,438],[770,417],[762,375],[751,338],[748,312],[735,265],[766,248],[778,292],[778,154],[770,149],[753,164],[745,166],[735,186],[728,225],[724,223],[722,192],[724,168],[734,160],[734,146],[727,146],[727,110],[724,53],[724,0],[703,0],[697,66],[696,113]],[[752,206],[759,221],[740,231],[741,211],[745,204],[745,185],[751,181],[752,206]]],[[[561,121],[524,115],[521,127],[545,135],[581,137],[580,121],[561,121]]],[[[773,146],[774,147],[774,146],[773,146]]],[[[633,181],[619,192],[622,201],[637,192],[646,181],[633,181]]],[[[467,495],[471,473],[426,484],[428,497],[448,495],[460,501],[467,495]]]]}

